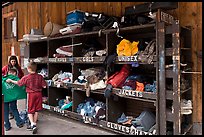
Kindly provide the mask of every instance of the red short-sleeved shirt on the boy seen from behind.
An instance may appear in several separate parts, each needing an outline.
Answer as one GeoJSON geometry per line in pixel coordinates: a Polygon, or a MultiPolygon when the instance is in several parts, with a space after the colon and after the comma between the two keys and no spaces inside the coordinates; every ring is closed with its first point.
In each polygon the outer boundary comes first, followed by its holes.
{"type": "Polygon", "coordinates": [[[38,73],[28,74],[23,76],[18,82],[18,86],[26,87],[26,92],[39,92],[43,87],[47,87],[47,83],[43,79],[43,76],[38,73]]]}

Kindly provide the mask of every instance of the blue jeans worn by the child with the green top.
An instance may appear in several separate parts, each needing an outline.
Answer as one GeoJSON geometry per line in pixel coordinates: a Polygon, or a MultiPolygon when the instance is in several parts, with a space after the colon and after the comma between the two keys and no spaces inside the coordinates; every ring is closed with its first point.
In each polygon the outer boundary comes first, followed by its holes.
{"type": "Polygon", "coordinates": [[[11,101],[11,102],[4,102],[4,127],[6,129],[9,129],[11,127],[11,123],[9,122],[9,107],[11,109],[11,112],[14,115],[14,119],[16,121],[16,125],[19,126],[23,124],[22,119],[19,116],[19,112],[17,109],[17,101],[11,101]]]}

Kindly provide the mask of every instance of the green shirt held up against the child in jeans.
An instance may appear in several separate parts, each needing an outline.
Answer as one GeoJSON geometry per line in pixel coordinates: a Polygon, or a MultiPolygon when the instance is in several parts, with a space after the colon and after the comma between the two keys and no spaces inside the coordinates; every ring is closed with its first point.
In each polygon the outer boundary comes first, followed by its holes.
{"type": "Polygon", "coordinates": [[[7,75],[2,77],[2,94],[4,95],[4,102],[11,102],[14,100],[26,99],[27,93],[25,91],[25,86],[19,87],[13,83],[7,83],[7,79],[12,79],[18,81],[18,76],[7,75]]]}

